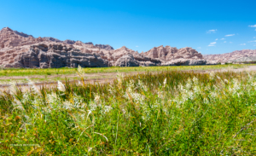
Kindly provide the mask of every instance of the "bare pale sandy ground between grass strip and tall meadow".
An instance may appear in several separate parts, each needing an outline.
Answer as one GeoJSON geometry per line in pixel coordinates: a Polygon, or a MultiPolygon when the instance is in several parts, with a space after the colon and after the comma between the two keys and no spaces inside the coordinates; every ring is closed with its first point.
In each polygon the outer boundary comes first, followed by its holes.
{"type": "MultiPolygon", "coordinates": [[[[212,70],[196,70],[196,71],[183,71],[183,72],[227,72],[227,71],[233,71],[233,72],[243,72],[243,71],[256,71],[256,66],[247,66],[245,68],[238,68],[238,69],[212,69],[212,70]]],[[[124,76],[128,75],[136,75],[138,73],[145,73],[145,72],[123,72],[124,76]]],[[[151,72],[151,73],[157,73],[157,72],[151,72]]],[[[84,74],[84,83],[85,84],[95,84],[95,83],[111,83],[113,82],[113,79],[117,77],[116,72],[112,73],[88,73],[84,74]],[[105,78],[104,78],[105,77],[105,78]]],[[[57,78],[57,77],[64,77],[64,78],[75,78],[78,77],[77,74],[73,75],[52,75],[52,76],[47,76],[47,78],[52,79],[52,78],[57,78]]],[[[22,79],[26,77],[2,77],[0,80],[4,79],[12,79],[15,81],[15,79],[22,79]]],[[[45,76],[29,76],[28,78],[45,78],[45,76]]],[[[71,82],[76,82],[79,83],[79,81],[74,80],[71,82]]],[[[35,83],[38,88],[41,87],[54,87],[57,83],[55,81],[49,81],[47,83],[35,83]]],[[[29,86],[28,84],[17,84],[19,87],[21,87],[22,90],[28,90],[29,86]]],[[[9,84],[0,84],[1,90],[8,90],[9,89],[9,84]]]]}

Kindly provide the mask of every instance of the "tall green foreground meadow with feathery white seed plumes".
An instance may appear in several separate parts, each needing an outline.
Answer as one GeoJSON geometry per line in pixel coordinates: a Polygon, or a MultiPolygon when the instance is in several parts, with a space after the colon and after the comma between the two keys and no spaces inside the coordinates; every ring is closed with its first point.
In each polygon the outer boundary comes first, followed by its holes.
{"type": "Polygon", "coordinates": [[[79,84],[1,93],[0,155],[256,154],[255,72],[76,72],[79,84]]]}

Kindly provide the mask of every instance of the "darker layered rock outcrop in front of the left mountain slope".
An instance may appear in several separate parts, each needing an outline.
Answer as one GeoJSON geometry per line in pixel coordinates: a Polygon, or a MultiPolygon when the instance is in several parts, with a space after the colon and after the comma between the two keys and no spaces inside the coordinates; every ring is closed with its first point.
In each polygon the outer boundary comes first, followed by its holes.
{"type": "Polygon", "coordinates": [[[5,67],[107,67],[108,61],[96,53],[82,53],[79,49],[61,44],[32,45],[25,53],[15,56],[15,61],[5,67]]]}

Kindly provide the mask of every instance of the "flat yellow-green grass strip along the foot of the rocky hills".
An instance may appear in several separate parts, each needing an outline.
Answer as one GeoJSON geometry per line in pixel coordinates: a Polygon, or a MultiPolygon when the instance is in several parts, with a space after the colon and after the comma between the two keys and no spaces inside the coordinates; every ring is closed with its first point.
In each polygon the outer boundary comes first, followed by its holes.
{"type": "MultiPolygon", "coordinates": [[[[232,65],[236,68],[241,68],[247,65],[232,65]]],[[[214,65],[214,66],[137,66],[137,67],[86,67],[85,73],[106,73],[106,72],[160,72],[170,70],[202,70],[202,69],[222,69],[226,68],[226,65],[214,65]]],[[[70,75],[76,74],[77,68],[8,68],[0,70],[0,77],[12,77],[12,76],[32,76],[32,75],[70,75]]]]}

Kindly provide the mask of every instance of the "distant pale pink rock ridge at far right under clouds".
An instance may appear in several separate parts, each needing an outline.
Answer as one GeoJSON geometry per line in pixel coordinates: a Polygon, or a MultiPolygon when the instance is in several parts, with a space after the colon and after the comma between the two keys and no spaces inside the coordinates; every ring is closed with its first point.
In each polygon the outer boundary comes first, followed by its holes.
{"type": "Polygon", "coordinates": [[[256,49],[242,49],[222,55],[203,55],[207,61],[218,61],[221,63],[233,61],[242,57],[256,56],[256,49]]]}

